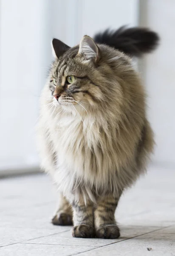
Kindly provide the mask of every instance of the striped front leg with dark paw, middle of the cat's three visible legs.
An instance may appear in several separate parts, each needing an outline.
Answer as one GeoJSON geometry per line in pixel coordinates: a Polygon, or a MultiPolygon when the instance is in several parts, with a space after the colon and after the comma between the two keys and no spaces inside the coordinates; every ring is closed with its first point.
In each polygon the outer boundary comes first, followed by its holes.
{"type": "Polygon", "coordinates": [[[73,237],[93,238],[93,205],[92,202],[73,201],[73,237]]]}

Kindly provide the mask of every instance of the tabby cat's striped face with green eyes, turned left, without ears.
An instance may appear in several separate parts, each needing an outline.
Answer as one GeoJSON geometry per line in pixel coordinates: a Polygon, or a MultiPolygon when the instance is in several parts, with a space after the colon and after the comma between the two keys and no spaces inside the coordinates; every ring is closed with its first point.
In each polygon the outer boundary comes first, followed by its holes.
{"type": "Polygon", "coordinates": [[[49,88],[54,104],[63,108],[79,104],[96,105],[102,98],[98,75],[93,61],[78,55],[77,47],[69,49],[51,69],[49,88]]]}

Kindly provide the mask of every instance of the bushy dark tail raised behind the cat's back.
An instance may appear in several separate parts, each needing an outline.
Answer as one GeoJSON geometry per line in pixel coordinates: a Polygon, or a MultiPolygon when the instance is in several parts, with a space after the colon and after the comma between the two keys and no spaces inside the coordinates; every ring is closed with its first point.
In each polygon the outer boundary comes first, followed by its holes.
{"type": "Polygon", "coordinates": [[[158,46],[158,34],[147,28],[122,26],[117,30],[106,29],[97,33],[94,41],[107,44],[130,56],[141,57],[143,53],[151,52],[158,46]]]}

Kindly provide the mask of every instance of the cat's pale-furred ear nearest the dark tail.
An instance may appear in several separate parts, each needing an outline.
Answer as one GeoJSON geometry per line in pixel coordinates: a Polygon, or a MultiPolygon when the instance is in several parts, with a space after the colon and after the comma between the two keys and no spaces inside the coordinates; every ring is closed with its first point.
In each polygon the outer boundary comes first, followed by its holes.
{"type": "Polygon", "coordinates": [[[79,44],[79,55],[83,55],[87,59],[93,59],[98,61],[99,59],[99,48],[95,44],[92,38],[85,35],[79,44]]]}

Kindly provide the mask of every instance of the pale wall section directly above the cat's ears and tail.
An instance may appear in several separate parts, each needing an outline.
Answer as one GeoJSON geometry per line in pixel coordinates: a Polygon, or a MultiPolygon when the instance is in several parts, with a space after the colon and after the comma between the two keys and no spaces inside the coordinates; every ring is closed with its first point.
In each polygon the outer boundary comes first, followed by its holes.
{"type": "MultiPolygon", "coordinates": [[[[69,46],[79,44],[84,35],[125,24],[138,25],[139,0],[47,0],[47,46],[51,56],[51,38],[69,46]]],[[[51,57],[50,57],[51,58],[51,57]]]]}

